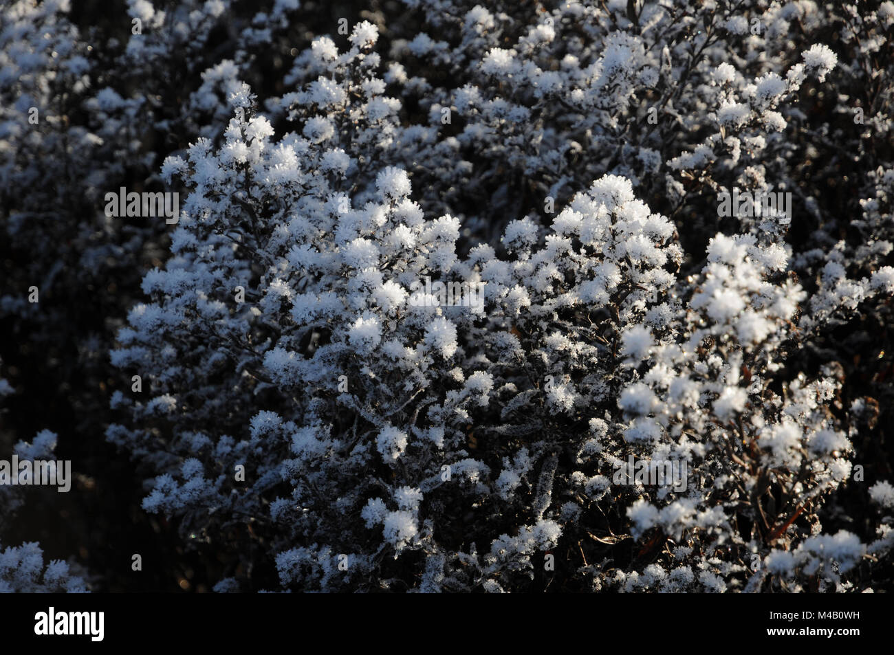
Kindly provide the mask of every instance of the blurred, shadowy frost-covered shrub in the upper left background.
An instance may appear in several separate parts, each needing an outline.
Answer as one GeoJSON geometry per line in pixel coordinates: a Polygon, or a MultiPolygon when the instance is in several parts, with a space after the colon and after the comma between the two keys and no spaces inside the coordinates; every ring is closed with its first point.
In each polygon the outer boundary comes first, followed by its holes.
{"type": "Polygon", "coordinates": [[[9,411],[71,405],[77,423],[62,438],[83,440],[70,449],[84,456],[75,466],[103,452],[106,353],[121,307],[167,249],[164,221],[107,216],[105,193],[163,189],[164,156],[199,133],[219,134],[206,120],[214,73],[207,85],[202,73],[226,68],[222,53],[249,68],[271,35],[282,42],[297,3],[239,16],[230,3],[157,5],[97,16],[68,0],[16,0],[0,12],[0,326],[3,354],[17,351],[9,359],[31,369],[21,407],[9,411]],[[236,31],[222,38],[224,24],[236,31]]]}

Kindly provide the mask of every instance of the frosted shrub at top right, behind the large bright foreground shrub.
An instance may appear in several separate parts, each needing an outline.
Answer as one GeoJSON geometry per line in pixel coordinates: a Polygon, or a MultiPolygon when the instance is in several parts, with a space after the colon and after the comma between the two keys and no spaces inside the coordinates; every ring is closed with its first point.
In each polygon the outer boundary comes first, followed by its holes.
{"type": "Polygon", "coordinates": [[[813,2],[559,3],[536,18],[521,7],[406,4],[443,40],[422,34],[393,49],[451,86],[410,77],[404,95],[470,155],[459,179],[420,159],[414,172],[432,171],[426,181],[455,211],[486,199],[470,219],[499,225],[506,208],[549,214],[544,197],[564,200],[606,172],[697,223],[721,189],[769,180],[794,190],[789,166],[805,144],[791,135],[805,117],[793,100],[837,59],[814,43],[837,12],[813,2]],[[443,107],[455,113],[449,125],[443,107]]]}

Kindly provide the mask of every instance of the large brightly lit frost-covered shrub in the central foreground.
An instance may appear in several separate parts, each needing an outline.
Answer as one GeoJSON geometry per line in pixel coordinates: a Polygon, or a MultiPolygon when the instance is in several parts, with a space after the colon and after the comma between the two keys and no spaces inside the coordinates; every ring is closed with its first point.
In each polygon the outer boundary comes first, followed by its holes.
{"type": "Polygon", "coordinates": [[[114,398],[139,428],[108,431],[164,472],[144,508],[210,540],[251,516],[299,589],[519,588],[608,513],[678,545],[670,570],[580,568],[596,589],[755,588],[752,558],[779,573],[780,542],[832,582],[862,557],[854,535],[789,530],[848,477],[851,445],[834,367],[769,387],[806,299],[780,231],[718,234],[683,277],[674,225],[606,175],[544,238],[523,218],[502,256],[462,258],[460,223],[426,220],[406,172],[382,169],[361,205],[333,186],[353,171],[332,170],[334,130],[274,140],[251,100],[233,94],[219,148],[165,162],[190,195],[113,353],[152,383],[114,398]],[[483,304],[414,301],[424,276],[483,304]],[[685,460],[685,491],[614,485],[629,455],[685,460]]]}

